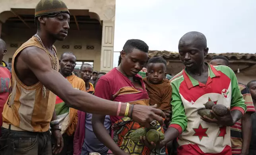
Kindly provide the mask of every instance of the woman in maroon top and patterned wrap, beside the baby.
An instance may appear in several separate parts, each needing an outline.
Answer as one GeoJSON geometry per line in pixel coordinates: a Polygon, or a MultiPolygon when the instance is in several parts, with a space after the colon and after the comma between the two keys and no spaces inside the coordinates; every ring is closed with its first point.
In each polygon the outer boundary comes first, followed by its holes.
{"type": "MultiPolygon", "coordinates": [[[[145,84],[142,77],[138,75],[147,62],[148,48],[148,45],[142,40],[127,40],[121,51],[119,66],[99,79],[95,88],[95,96],[117,102],[129,102],[131,105],[149,106],[149,96],[145,84]]],[[[128,108],[127,112],[129,110],[132,109],[128,108]]],[[[110,116],[113,129],[111,137],[109,130],[104,126],[105,115],[93,114],[93,131],[97,138],[110,149],[109,153],[114,155],[159,154],[155,149],[152,150],[149,147],[144,147],[140,142],[129,140],[129,134],[141,127],[130,117],[131,115],[122,117],[118,113],[110,116]]],[[[159,129],[161,128],[159,127],[159,129]]],[[[165,152],[165,148],[161,149],[162,155],[165,152]]]]}

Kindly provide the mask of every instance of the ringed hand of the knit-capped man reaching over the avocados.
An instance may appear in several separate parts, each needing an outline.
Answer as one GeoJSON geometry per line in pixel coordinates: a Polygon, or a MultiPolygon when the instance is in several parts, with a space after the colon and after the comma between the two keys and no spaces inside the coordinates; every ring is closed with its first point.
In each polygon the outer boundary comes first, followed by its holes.
{"type": "Polygon", "coordinates": [[[163,118],[165,118],[165,113],[162,110],[156,108],[157,104],[154,106],[143,106],[138,104],[134,105],[132,111],[132,119],[146,128],[151,127],[150,123],[153,120],[156,120],[160,125],[163,125],[163,118]]]}

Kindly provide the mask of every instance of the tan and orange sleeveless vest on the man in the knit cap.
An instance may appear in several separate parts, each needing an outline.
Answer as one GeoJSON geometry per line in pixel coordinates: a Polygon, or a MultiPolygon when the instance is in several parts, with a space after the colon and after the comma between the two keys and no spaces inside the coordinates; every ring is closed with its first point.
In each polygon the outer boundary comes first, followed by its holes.
{"type": "MultiPolygon", "coordinates": [[[[57,61],[58,71],[58,60],[42,47],[37,38],[33,36],[27,42],[23,43],[12,57],[12,93],[4,105],[4,111],[2,113],[3,122],[26,131],[45,132],[49,130],[56,95],[45,89],[41,82],[29,87],[24,85],[17,77],[14,69],[16,56],[29,46],[37,46],[43,49],[48,54],[49,59],[51,59],[52,68],[54,68],[57,61]]],[[[53,48],[56,51],[56,48],[53,48]]]]}

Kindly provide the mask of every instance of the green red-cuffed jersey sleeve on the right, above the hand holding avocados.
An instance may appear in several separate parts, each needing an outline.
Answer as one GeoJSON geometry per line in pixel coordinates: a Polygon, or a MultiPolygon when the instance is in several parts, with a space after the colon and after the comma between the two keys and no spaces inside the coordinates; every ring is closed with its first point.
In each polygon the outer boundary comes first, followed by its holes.
{"type": "Polygon", "coordinates": [[[232,89],[232,94],[231,94],[231,111],[232,110],[239,110],[244,114],[246,112],[246,105],[245,101],[242,98],[242,94],[239,89],[239,85],[237,82],[237,77],[233,70],[230,69],[231,72],[231,89],[232,89]]]}

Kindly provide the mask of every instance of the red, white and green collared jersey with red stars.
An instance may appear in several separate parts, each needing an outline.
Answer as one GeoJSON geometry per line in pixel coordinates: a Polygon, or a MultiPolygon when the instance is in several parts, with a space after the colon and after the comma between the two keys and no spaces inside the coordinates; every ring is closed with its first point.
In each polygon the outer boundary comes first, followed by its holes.
{"type": "Polygon", "coordinates": [[[178,137],[178,155],[231,155],[230,127],[207,123],[198,110],[207,101],[231,107],[244,113],[246,105],[239,90],[237,77],[227,66],[208,65],[208,80],[200,83],[186,69],[170,82],[172,93],[172,122],[182,133],[178,137]]]}

